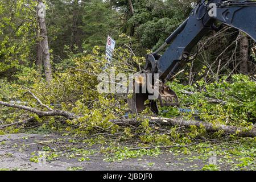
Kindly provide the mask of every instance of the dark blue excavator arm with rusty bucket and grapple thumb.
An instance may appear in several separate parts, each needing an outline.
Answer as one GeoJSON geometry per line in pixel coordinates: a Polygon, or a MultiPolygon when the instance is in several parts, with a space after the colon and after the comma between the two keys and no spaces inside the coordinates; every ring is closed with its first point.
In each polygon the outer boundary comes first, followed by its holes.
{"type": "MultiPolygon", "coordinates": [[[[245,32],[256,41],[256,2],[253,1],[222,1],[199,0],[189,17],[165,40],[164,44],[154,53],[146,55],[146,65],[143,73],[158,73],[159,101],[163,105],[178,105],[177,96],[165,84],[171,81],[183,65],[189,61],[192,48],[211,30],[216,30],[215,24],[220,22],[245,32]],[[159,55],[165,47],[169,47],[159,55]]],[[[154,77],[154,76],[153,76],[154,77]]],[[[151,81],[154,85],[154,81],[151,81]]],[[[133,113],[143,111],[151,93],[134,93],[128,99],[133,113]]],[[[148,106],[158,114],[156,101],[151,100],[148,106]]]]}

